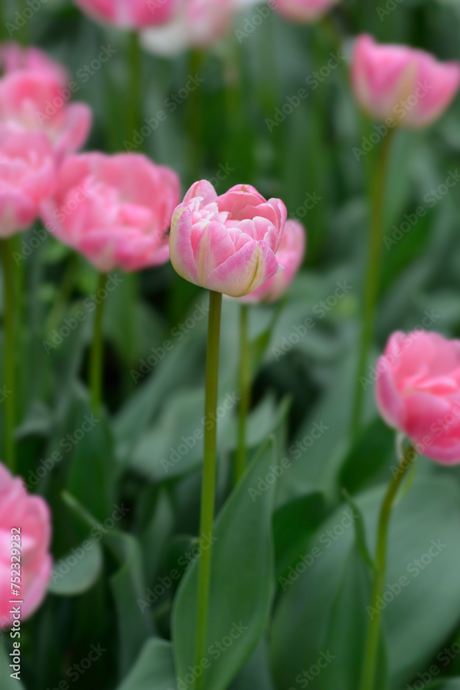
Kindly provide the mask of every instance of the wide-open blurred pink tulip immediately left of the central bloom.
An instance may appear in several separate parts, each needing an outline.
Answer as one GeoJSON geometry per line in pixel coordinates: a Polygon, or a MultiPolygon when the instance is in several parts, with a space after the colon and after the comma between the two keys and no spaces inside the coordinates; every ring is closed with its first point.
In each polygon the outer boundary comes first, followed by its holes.
{"type": "Polygon", "coordinates": [[[168,261],[179,195],[177,174],[143,155],[88,153],[66,159],[41,212],[48,229],[98,270],[128,272],[168,261]]]}

